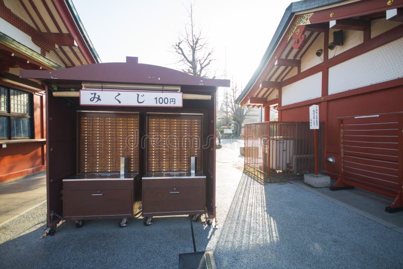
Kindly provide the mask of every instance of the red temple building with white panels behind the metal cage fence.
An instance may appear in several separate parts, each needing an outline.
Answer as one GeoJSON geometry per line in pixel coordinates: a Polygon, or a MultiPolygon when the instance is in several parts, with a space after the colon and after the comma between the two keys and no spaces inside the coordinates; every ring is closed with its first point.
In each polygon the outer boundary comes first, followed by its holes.
{"type": "MultiPolygon", "coordinates": [[[[321,172],[395,198],[391,208],[403,206],[402,22],[401,0],[292,3],[237,99],[279,122],[309,122],[318,105],[321,172]]],[[[309,156],[290,150],[284,170],[309,156]]],[[[256,169],[269,171],[264,162],[256,169]]]]}

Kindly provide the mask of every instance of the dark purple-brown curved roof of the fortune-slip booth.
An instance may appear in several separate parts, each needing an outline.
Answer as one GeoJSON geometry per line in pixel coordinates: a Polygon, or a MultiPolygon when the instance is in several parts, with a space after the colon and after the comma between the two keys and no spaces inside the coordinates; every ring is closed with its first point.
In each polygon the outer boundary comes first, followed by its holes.
{"type": "Polygon", "coordinates": [[[230,80],[200,78],[162,66],[139,63],[138,57],[126,57],[126,62],[94,63],[61,70],[22,70],[20,77],[50,81],[230,87],[230,80]]]}

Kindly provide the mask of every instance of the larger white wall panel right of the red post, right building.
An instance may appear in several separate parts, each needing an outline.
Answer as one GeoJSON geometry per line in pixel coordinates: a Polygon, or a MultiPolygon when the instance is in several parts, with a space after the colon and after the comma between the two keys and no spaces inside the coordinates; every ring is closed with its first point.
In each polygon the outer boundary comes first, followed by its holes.
{"type": "Polygon", "coordinates": [[[328,93],[403,77],[403,38],[329,68],[328,93]]]}

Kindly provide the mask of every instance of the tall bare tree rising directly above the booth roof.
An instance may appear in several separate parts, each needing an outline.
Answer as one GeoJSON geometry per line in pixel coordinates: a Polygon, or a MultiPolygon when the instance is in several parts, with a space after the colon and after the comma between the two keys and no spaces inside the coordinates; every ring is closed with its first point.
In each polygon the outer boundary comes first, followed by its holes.
{"type": "Polygon", "coordinates": [[[196,77],[207,77],[210,69],[213,49],[209,48],[207,40],[197,30],[193,22],[193,5],[187,10],[190,24],[185,25],[185,33],[179,34],[178,42],[172,45],[178,54],[179,61],[185,68],[182,70],[196,77]]]}

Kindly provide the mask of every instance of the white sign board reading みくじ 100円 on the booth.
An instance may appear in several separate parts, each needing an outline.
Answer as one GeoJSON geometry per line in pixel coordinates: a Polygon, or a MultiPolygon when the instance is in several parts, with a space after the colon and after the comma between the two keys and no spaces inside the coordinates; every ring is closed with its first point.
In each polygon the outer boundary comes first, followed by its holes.
{"type": "Polygon", "coordinates": [[[80,105],[182,107],[181,92],[110,89],[80,90],[80,105]]]}

